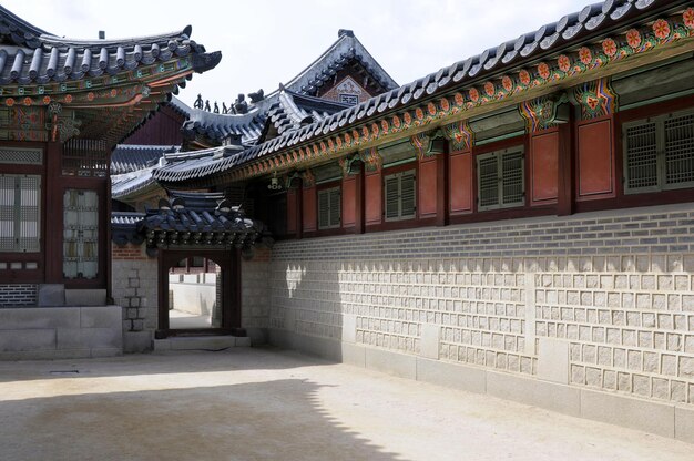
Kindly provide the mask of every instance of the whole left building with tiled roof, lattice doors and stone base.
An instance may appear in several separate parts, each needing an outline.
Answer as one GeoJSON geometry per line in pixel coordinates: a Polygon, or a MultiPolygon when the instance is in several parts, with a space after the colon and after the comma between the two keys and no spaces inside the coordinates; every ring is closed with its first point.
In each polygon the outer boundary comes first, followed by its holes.
{"type": "Polygon", "coordinates": [[[0,7],[0,357],[122,354],[111,151],[221,53],[191,28],[71,40],[0,7]]]}

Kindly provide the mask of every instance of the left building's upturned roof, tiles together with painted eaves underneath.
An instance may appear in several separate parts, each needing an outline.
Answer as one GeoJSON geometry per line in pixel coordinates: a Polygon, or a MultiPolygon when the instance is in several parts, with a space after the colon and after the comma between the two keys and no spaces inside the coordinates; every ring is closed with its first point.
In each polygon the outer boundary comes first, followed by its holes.
{"type": "MultiPolygon", "coordinates": [[[[114,145],[133,132],[194,72],[214,68],[208,53],[180,31],[116,40],[59,37],[0,7],[0,106],[35,113],[22,139],[103,140],[114,145]],[[47,110],[48,109],[48,110],[47,110]],[[50,123],[39,111],[48,112],[50,123]],[[50,126],[47,126],[50,125],[50,126]]],[[[8,139],[17,136],[7,134],[8,139]]]]}

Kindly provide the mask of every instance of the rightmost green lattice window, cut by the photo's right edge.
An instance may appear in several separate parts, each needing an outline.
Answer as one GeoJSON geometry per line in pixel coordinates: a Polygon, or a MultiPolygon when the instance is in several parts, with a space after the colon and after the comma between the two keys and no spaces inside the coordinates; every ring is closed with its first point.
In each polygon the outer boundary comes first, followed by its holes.
{"type": "Polygon", "coordinates": [[[694,112],[625,123],[624,192],[694,187],[694,112]]]}

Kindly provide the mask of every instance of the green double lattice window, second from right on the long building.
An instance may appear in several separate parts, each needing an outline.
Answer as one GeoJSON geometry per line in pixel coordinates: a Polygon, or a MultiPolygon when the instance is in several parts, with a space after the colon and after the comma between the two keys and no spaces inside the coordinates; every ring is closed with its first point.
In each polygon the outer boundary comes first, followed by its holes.
{"type": "Polygon", "coordinates": [[[477,157],[478,209],[522,206],[525,203],[524,157],[521,147],[477,157]]]}

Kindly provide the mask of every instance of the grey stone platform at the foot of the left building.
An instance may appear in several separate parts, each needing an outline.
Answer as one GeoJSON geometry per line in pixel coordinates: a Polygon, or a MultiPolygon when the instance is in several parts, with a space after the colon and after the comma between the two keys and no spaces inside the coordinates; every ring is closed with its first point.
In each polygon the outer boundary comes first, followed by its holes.
{"type": "Polygon", "coordinates": [[[0,309],[0,359],[109,357],[122,352],[120,306],[0,309]]]}

